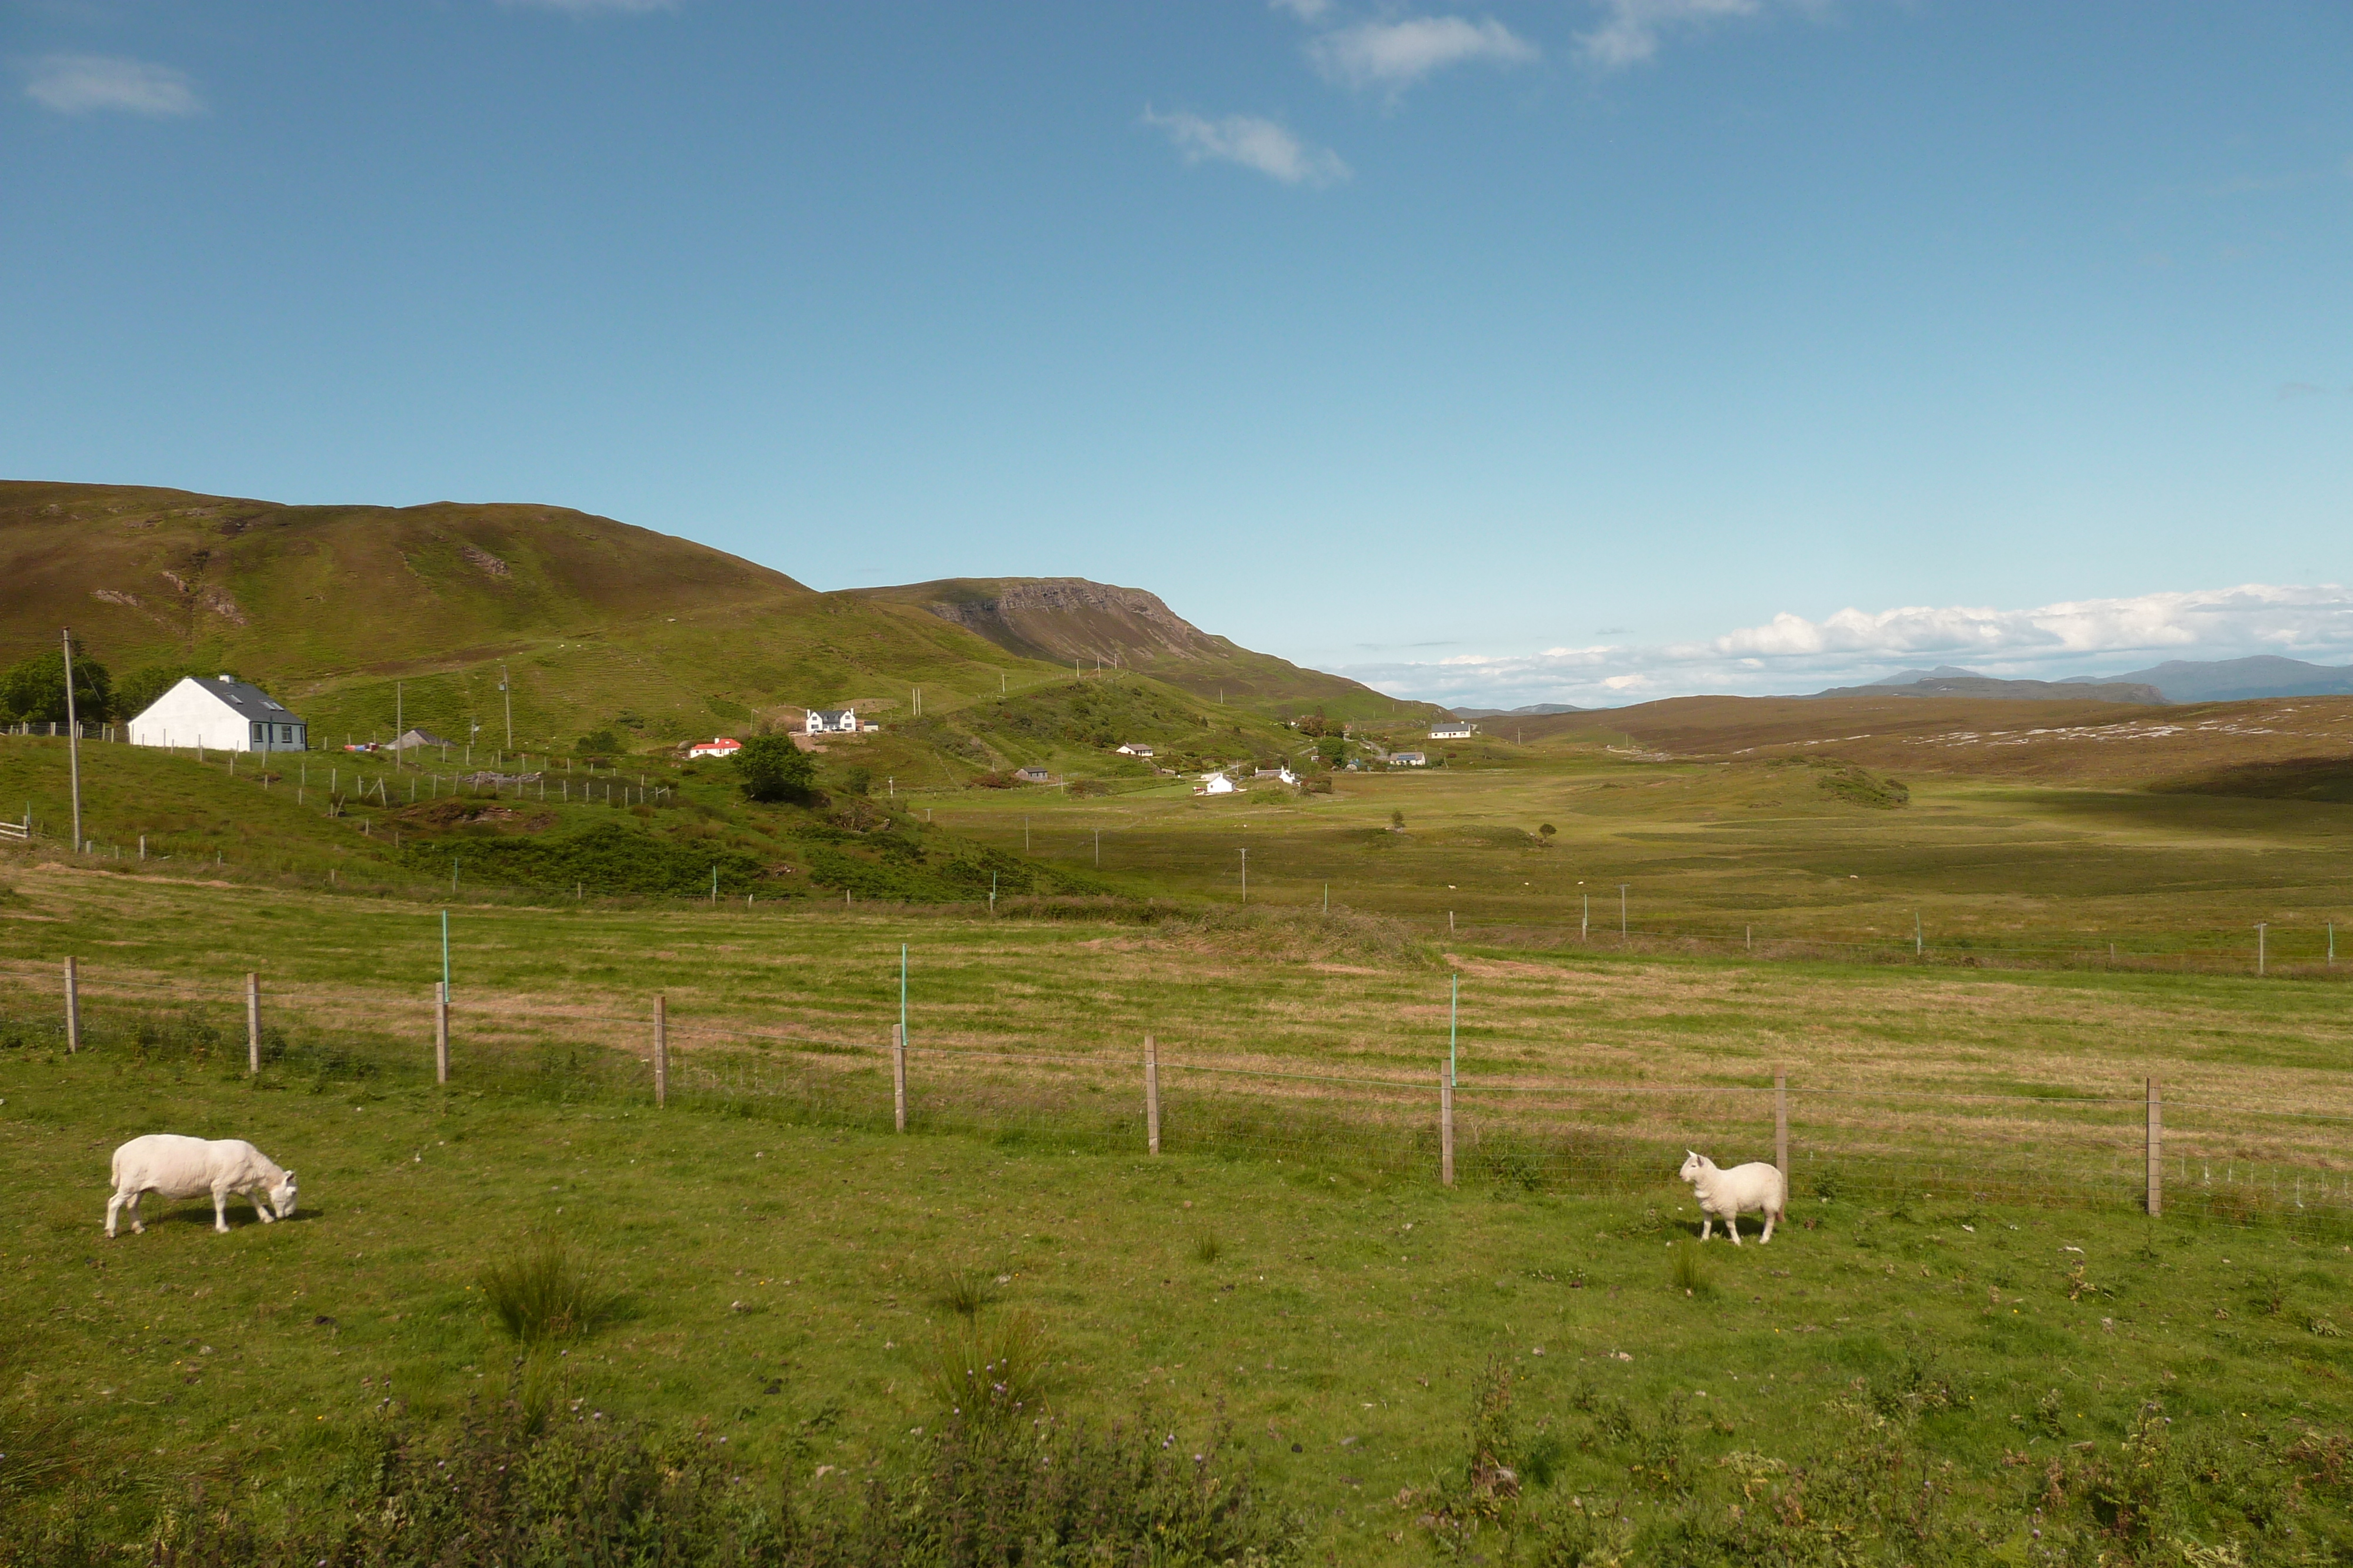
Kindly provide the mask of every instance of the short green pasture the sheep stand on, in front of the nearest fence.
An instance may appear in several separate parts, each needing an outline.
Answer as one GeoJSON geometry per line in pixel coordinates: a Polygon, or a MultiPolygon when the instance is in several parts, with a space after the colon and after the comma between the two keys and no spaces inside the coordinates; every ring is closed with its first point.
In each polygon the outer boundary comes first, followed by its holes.
{"type": "Polygon", "coordinates": [[[1934,1476],[1995,1559],[2033,1561],[2038,1502],[2054,1537],[2097,1537],[2097,1486],[2068,1472],[2113,1460],[2155,1406],[2179,1450],[2233,1476],[2174,1497],[2191,1544],[2346,1549],[2341,1483],[2292,1481],[2329,1453],[2304,1434],[2353,1415],[2334,1338],[2353,1258],[2278,1229],[1817,1204],[1769,1248],[1718,1241],[1678,1276],[1689,1199],[1664,1171],[1626,1199],[1445,1192],[1313,1161],[249,1086],[104,1048],[12,1053],[0,1079],[9,1410],[71,1434],[66,1469],[16,1493],[19,1528],[73,1497],[94,1535],[141,1542],[191,1486],[280,1523],[346,1507],[386,1425],[518,1392],[478,1274],[560,1229],[619,1302],[546,1373],[555,1403],[725,1439],[729,1465],[819,1500],[939,1429],[925,1363],[960,1324],[962,1272],[991,1281],[984,1331],[1042,1328],[1054,1410],[1148,1401],[1186,1443],[1226,1422],[1226,1462],[1301,1514],[1315,1561],[1457,1540],[1417,1521],[1461,1493],[1492,1359],[1513,1373],[1529,1521],[1591,1500],[1664,1549],[1725,1528],[1744,1488],[1786,1493],[1788,1467],[1878,1448],[1934,1476]],[[299,1171],[304,1211],[264,1227],[240,1204],[216,1237],[209,1204],[181,1204],[108,1244],[106,1150],[158,1121],[254,1138],[299,1171]]]}

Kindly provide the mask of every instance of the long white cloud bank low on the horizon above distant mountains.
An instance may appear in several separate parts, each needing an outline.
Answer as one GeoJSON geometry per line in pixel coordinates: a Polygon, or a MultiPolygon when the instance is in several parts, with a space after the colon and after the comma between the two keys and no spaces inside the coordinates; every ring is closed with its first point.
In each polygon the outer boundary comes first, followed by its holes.
{"type": "Polygon", "coordinates": [[[1541,654],[1457,654],[1431,663],[1348,668],[1384,691],[1431,701],[1624,703],[1697,691],[1765,693],[1861,684],[1918,663],[1958,663],[2012,679],[2118,675],[2167,658],[2285,654],[2353,658],[2353,590],[2339,583],[2066,599],[2038,609],[1842,609],[1779,614],[1701,642],[1591,644],[1541,654]],[[1508,698],[1508,701],[1506,701],[1508,698]]]}

